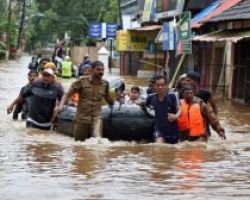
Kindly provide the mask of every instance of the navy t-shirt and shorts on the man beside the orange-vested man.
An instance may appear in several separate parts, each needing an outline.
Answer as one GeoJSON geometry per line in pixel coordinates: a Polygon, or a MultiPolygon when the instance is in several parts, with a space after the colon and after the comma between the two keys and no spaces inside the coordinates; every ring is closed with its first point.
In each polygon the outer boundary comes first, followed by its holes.
{"type": "Polygon", "coordinates": [[[179,141],[179,131],[177,121],[168,121],[168,113],[176,113],[179,101],[173,93],[166,93],[161,102],[157,94],[149,95],[146,106],[151,105],[155,110],[155,137],[163,137],[167,143],[177,143],[179,141]]]}

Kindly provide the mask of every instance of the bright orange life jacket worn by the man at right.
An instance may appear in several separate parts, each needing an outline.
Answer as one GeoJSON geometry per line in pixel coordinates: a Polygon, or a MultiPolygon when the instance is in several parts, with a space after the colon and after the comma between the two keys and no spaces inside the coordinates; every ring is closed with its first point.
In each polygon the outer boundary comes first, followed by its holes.
{"type": "Polygon", "coordinates": [[[199,137],[206,133],[206,123],[201,114],[201,107],[199,102],[192,105],[186,103],[184,99],[181,100],[182,113],[177,119],[177,124],[180,131],[188,131],[189,136],[199,137]]]}

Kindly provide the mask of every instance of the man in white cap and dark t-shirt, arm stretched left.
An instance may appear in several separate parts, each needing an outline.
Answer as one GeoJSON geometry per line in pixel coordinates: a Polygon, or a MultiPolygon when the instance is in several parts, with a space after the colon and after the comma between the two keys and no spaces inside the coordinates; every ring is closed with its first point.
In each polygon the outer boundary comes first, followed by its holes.
{"type": "MultiPolygon", "coordinates": [[[[16,105],[29,97],[26,127],[50,130],[56,102],[61,100],[63,94],[62,85],[54,81],[54,71],[46,68],[42,71],[42,77],[34,81],[13,104],[16,105]]],[[[7,108],[7,112],[12,112],[11,107],[7,108]]]]}

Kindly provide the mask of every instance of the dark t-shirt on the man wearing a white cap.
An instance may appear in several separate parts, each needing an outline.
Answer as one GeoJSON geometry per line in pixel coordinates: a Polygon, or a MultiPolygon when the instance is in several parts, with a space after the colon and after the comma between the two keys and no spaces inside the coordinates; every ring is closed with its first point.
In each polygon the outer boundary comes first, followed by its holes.
{"type": "Polygon", "coordinates": [[[45,86],[39,79],[33,82],[21,96],[30,97],[28,117],[39,123],[48,123],[53,116],[56,100],[61,100],[63,94],[63,87],[60,83],[53,82],[45,86]]]}

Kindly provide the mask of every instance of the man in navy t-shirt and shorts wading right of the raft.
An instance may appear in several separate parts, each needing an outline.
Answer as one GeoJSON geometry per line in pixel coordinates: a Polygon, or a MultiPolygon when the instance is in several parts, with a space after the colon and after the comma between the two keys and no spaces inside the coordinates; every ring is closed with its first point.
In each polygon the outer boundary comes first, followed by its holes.
{"type": "Polygon", "coordinates": [[[146,99],[146,106],[151,105],[155,110],[155,142],[176,144],[180,138],[177,126],[181,114],[179,100],[174,93],[168,92],[164,76],[156,77],[155,91],[146,99]]]}

